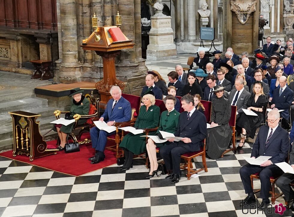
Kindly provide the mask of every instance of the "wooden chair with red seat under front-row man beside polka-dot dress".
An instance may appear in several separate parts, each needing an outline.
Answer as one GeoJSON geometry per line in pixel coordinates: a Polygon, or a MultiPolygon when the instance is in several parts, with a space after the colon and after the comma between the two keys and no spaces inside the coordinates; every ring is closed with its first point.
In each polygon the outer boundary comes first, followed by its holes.
{"type": "MultiPolygon", "coordinates": [[[[200,146],[200,150],[197,152],[188,152],[186,154],[181,155],[181,158],[185,160],[185,163],[180,164],[180,169],[187,170],[187,178],[190,180],[191,175],[198,173],[202,170],[205,172],[208,172],[207,165],[206,165],[206,158],[205,158],[205,140],[203,140],[203,147],[200,146]],[[196,158],[197,156],[202,156],[202,164],[203,167],[198,170],[192,170],[193,164],[192,164],[192,158],[196,158]]],[[[196,168],[195,168],[196,169],[196,168]]]]}

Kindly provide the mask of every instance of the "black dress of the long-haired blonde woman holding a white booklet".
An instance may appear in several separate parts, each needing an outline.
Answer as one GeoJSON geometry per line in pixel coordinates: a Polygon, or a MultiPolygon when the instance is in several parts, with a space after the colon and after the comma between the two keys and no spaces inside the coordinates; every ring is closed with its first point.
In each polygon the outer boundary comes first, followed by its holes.
{"type": "MultiPolygon", "coordinates": [[[[268,104],[268,98],[265,95],[260,95],[257,101],[255,102],[254,97],[255,97],[255,94],[250,96],[247,102],[247,106],[262,108],[262,110],[264,111],[266,109],[266,105],[268,104]]],[[[237,131],[241,133],[241,128],[244,128],[246,132],[249,134],[249,137],[253,139],[255,136],[257,127],[264,120],[264,115],[263,115],[263,112],[258,112],[254,110],[251,110],[251,111],[257,114],[257,116],[251,116],[251,115],[246,115],[245,113],[241,113],[236,123],[236,126],[237,126],[236,129],[237,131]]]]}

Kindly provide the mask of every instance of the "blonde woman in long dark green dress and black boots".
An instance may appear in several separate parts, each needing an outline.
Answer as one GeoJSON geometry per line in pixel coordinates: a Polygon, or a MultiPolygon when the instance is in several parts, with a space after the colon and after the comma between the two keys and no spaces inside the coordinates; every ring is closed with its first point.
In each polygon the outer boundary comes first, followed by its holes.
{"type": "MultiPolygon", "coordinates": [[[[140,112],[134,127],[136,129],[158,127],[160,109],[158,106],[154,105],[154,95],[144,95],[142,102],[144,103],[144,105],[140,108],[140,112]]],[[[155,132],[150,134],[154,135],[155,132]]],[[[143,135],[145,134],[140,133],[134,135],[132,133],[128,133],[127,135],[125,135],[122,142],[120,143],[119,147],[125,150],[125,163],[120,168],[122,171],[130,169],[130,167],[132,166],[134,154],[139,155],[143,152],[146,152],[146,138],[140,137],[143,135]]]]}

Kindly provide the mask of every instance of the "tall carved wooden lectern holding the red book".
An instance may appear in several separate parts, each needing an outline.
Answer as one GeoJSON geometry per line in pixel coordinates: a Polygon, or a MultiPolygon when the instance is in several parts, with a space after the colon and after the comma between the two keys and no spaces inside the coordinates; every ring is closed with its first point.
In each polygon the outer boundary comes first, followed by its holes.
{"type": "Polygon", "coordinates": [[[96,83],[96,89],[101,95],[100,104],[104,106],[111,98],[110,88],[114,85],[125,88],[125,83],[116,78],[115,57],[119,55],[120,50],[133,48],[132,40],[125,37],[125,41],[114,42],[108,30],[117,28],[116,26],[97,27],[90,37],[81,45],[83,50],[95,50],[97,55],[103,59],[103,79],[96,83]]]}

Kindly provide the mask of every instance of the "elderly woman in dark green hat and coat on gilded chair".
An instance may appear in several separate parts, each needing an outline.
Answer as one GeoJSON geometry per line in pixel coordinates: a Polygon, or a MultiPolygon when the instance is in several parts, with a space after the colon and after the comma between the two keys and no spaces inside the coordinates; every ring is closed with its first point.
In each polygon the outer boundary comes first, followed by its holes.
{"type": "MultiPolygon", "coordinates": [[[[68,97],[73,97],[73,100],[70,101],[70,112],[65,114],[64,119],[74,119],[73,116],[75,114],[88,115],[90,109],[90,102],[87,98],[85,98],[85,96],[82,95],[83,92],[84,90],[79,88],[70,90],[70,95],[68,95],[68,97]]],[[[58,110],[55,112],[58,112],[58,110]]],[[[80,119],[79,124],[84,124],[86,121],[86,119],[80,119]]],[[[55,124],[55,126],[53,127],[53,130],[57,131],[59,139],[61,141],[60,145],[57,147],[59,151],[64,149],[67,134],[73,131],[73,125],[74,123],[67,126],[62,124],[55,124]]]]}

